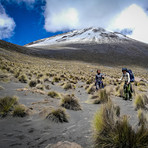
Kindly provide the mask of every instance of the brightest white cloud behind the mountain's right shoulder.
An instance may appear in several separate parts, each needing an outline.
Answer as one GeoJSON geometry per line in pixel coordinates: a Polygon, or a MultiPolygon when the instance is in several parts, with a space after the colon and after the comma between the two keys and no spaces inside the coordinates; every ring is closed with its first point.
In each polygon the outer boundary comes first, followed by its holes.
{"type": "Polygon", "coordinates": [[[109,28],[120,31],[129,28],[132,30],[129,37],[148,43],[148,15],[136,4],[124,9],[109,28]]]}

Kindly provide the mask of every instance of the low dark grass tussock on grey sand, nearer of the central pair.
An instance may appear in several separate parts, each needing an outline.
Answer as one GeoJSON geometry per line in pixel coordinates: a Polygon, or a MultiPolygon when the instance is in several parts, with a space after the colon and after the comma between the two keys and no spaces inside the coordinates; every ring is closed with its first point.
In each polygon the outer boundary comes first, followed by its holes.
{"type": "Polygon", "coordinates": [[[68,122],[68,115],[63,108],[53,109],[47,116],[46,119],[50,119],[56,123],[68,122]]]}

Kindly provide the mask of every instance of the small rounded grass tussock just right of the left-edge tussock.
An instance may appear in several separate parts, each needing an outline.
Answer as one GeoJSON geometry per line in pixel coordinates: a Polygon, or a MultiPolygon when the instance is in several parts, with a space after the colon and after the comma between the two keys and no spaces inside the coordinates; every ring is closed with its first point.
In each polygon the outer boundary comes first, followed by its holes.
{"type": "Polygon", "coordinates": [[[13,116],[14,117],[25,117],[27,115],[26,106],[19,104],[14,107],[13,116]]]}

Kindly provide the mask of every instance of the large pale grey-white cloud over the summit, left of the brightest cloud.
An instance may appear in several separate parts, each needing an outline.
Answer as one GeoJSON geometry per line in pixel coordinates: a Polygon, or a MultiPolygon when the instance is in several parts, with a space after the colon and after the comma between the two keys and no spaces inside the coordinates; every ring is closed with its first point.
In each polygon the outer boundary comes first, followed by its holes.
{"type": "Polygon", "coordinates": [[[56,32],[90,26],[107,27],[128,0],[46,0],[45,26],[56,32]]]}

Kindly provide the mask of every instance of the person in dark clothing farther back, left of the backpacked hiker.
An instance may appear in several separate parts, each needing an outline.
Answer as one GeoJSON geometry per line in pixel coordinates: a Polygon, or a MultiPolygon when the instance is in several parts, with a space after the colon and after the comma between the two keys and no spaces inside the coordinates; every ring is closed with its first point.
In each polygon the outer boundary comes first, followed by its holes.
{"type": "Polygon", "coordinates": [[[103,85],[103,80],[104,79],[104,76],[103,74],[101,73],[101,70],[97,70],[97,74],[96,74],[96,78],[95,78],[95,86],[96,86],[96,90],[99,90],[101,88],[104,88],[104,85],[103,85]]]}

